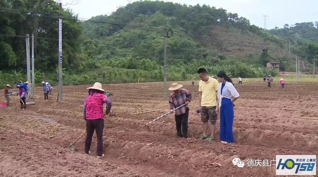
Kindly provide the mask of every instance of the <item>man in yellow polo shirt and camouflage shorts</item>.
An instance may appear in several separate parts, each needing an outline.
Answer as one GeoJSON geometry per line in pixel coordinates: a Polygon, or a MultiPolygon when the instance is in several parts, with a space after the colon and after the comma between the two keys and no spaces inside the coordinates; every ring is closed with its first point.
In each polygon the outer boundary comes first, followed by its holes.
{"type": "Polygon", "coordinates": [[[216,129],[217,114],[217,92],[219,89],[219,82],[208,75],[205,68],[198,70],[199,77],[199,108],[201,109],[201,121],[203,123],[203,135],[200,139],[214,141],[214,134],[216,129]],[[208,137],[209,124],[211,127],[211,135],[208,137]]]}

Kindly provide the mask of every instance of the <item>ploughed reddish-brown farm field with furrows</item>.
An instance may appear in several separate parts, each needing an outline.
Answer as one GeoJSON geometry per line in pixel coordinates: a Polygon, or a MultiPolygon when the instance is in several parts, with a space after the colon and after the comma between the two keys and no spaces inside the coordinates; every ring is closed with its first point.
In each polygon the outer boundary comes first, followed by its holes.
{"type": "MultiPolygon", "coordinates": [[[[247,167],[247,160],[318,154],[318,120],[295,118],[318,117],[318,82],[287,83],[284,90],[278,83],[268,89],[261,79],[236,84],[240,98],[235,103],[236,143],[231,145],[220,142],[219,121],[215,142],[198,139],[198,88],[180,83],[192,92],[188,139],[176,137],[174,115],[153,122],[150,131],[144,126],[169,109],[162,82],[103,84],[114,94],[112,111],[105,118],[103,159],[95,158],[95,135],[91,156],[84,155],[84,136],[69,148],[85,131],[83,99],[90,85],[64,86],[61,104],[56,103],[57,87],[49,100],[38,87],[36,105],[24,111],[11,96],[11,107],[0,108],[0,176],[271,177],[275,164],[247,167]],[[132,115],[152,110],[159,111],[132,115]],[[243,168],[232,164],[235,157],[245,163],[243,168]]],[[[5,102],[3,96],[0,102],[5,102]]]]}

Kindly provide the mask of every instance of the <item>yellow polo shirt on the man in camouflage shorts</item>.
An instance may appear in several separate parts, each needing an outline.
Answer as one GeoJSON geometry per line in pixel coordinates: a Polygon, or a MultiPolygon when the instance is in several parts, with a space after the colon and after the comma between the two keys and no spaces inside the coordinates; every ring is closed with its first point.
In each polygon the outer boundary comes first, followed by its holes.
{"type": "Polygon", "coordinates": [[[199,92],[202,92],[201,106],[217,106],[217,91],[219,89],[219,82],[217,79],[209,76],[209,80],[199,82],[199,92]]]}

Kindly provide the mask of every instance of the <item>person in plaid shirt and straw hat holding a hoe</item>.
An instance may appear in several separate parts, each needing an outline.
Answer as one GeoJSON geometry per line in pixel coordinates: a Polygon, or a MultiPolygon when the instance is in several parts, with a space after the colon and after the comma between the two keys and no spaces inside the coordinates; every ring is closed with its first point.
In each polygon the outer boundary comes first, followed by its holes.
{"type": "Polygon", "coordinates": [[[172,83],[171,87],[168,88],[169,91],[172,91],[170,95],[170,113],[173,113],[173,109],[178,108],[179,106],[184,105],[183,107],[175,110],[175,124],[177,128],[177,136],[188,138],[188,117],[189,117],[189,108],[188,104],[191,101],[191,92],[186,89],[181,89],[183,85],[178,83],[172,83]],[[181,133],[182,125],[182,133],[181,133]]]}

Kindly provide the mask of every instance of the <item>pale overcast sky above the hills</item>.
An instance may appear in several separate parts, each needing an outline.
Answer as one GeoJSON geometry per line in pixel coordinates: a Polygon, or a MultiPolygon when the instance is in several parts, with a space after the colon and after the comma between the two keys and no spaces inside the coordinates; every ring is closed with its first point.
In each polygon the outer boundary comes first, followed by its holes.
{"type": "MultiPolygon", "coordinates": [[[[111,14],[120,6],[137,0],[58,0],[64,8],[70,8],[80,18],[111,14]],[[69,3],[69,4],[68,4],[69,3]],[[70,4],[73,3],[73,4],[70,4]],[[68,4],[68,5],[66,5],[68,4]]],[[[164,0],[187,5],[206,4],[224,8],[228,12],[246,17],[251,24],[264,27],[264,15],[267,15],[267,29],[284,24],[318,21],[318,0],[164,0]]]]}

